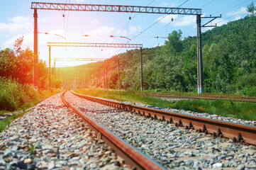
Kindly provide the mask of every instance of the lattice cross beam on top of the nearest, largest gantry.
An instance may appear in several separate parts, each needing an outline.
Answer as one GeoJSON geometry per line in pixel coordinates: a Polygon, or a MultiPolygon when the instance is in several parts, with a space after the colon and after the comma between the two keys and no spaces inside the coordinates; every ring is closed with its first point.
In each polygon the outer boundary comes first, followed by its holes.
{"type": "Polygon", "coordinates": [[[48,2],[32,2],[31,9],[45,9],[58,11],[101,11],[101,12],[130,12],[130,13],[162,13],[201,15],[201,8],[168,8],[155,6],[120,6],[101,4],[62,4],[48,2]]]}

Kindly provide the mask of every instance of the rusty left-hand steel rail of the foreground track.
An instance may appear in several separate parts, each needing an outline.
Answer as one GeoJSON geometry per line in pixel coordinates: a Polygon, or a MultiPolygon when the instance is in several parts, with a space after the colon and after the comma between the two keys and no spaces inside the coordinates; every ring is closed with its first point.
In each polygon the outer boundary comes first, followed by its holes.
{"type": "MultiPolygon", "coordinates": [[[[65,91],[66,92],[66,91],[65,91]]],[[[79,115],[85,123],[89,125],[91,130],[96,132],[97,136],[100,136],[111,148],[125,160],[125,164],[130,165],[131,167],[136,167],[136,169],[165,169],[163,166],[150,159],[148,156],[140,152],[135,147],[128,144],[126,141],[122,140],[120,137],[114,135],[111,131],[104,128],[93,120],[88,115],[85,115],[82,111],[79,111],[78,108],[73,106],[67,101],[64,97],[65,92],[61,95],[61,99],[66,106],[72,108],[72,110],[79,115]]]]}

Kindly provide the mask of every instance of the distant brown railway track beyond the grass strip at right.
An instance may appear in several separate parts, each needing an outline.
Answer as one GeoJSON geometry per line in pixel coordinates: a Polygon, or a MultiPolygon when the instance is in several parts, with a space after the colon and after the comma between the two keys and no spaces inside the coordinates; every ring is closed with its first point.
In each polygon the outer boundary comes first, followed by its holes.
{"type": "Polygon", "coordinates": [[[154,93],[140,93],[140,96],[152,96],[157,98],[178,98],[184,100],[196,100],[196,99],[206,99],[206,100],[218,100],[221,99],[223,101],[228,101],[232,99],[232,101],[241,101],[241,102],[251,102],[256,103],[255,97],[226,97],[226,96],[177,96],[172,94],[154,94],[154,93]]]}

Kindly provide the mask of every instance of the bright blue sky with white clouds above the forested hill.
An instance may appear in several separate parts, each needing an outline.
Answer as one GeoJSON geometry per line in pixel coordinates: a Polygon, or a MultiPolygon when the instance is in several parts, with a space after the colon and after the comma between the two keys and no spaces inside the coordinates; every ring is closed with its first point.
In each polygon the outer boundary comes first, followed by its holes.
{"type": "MultiPolygon", "coordinates": [[[[12,49],[15,40],[21,36],[24,37],[23,49],[29,47],[30,50],[33,50],[34,20],[33,9],[30,9],[31,2],[28,0],[0,1],[0,50],[4,50],[6,47],[12,49]]],[[[33,2],[201,8],[203,16],[221,15],[221,18],[217,18],[210,24],[222,26],[230,21],[244,18],[247,15],[247,5],[252,0],[33,0],[33,2]]],[[[202,24],[206,22],[208,19],[202,19],[202,24]]],[[[204,33],[208,29],[211,28],[202,28],[202,32],[204,33]]],[[[48,42],[127,43],[129,41],[127,38],[129,38],[131,40],[128,43],[143,44],[143,47],[155,47],[163,45],[168,34],[173,30],[182,30],[182,38],[196,35],[196,16],[38,10],[39,58],[48,63],[48,42]],[[114,37],[111,38],[111,35],[114,37]]],[[[52,58],[65,59],[109,58],[130,50],[100,47],[52,47],[51,49],[52,58]]],[[[56,67],[86,63],[88,62],[66,60],[56,62],[56,67]]]]}

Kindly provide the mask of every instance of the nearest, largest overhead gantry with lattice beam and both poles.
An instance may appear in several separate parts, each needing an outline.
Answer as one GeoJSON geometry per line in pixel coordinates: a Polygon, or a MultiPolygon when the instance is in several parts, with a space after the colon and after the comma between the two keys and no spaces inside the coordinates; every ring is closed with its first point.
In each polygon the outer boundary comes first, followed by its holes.
{"type": "MultiPolygon", "coordinates": [[[[180,14],[195,15],[197,23],[197,65],[198,65],[198,94],[203,94],[203,64],[201,52],[201,8],[169,8],[154,6],[121,6],[102,4],[63,4],[47,2],[31,2],[31,9],[34,10],[34,53],[38,53],[38,26],[37,10],[56,11],[97,11],[97,12],[123,12],[123,13],[160,13],[160,14],[180,14]]],[[[35,65],[37,58],[35,59],[35,65]]],[[[38,86],[38,72],[34,66],[34,85],[38,86]]],[[[142,90],[142,89],[141,89],[142,90]]]]}

